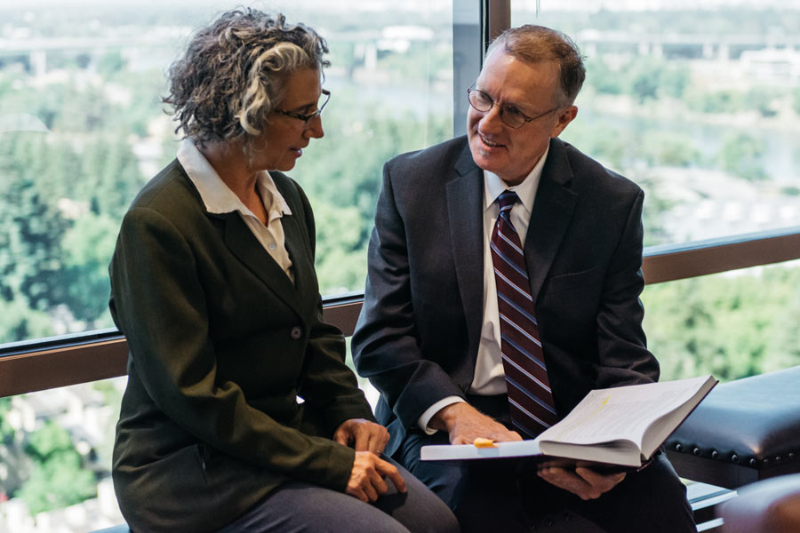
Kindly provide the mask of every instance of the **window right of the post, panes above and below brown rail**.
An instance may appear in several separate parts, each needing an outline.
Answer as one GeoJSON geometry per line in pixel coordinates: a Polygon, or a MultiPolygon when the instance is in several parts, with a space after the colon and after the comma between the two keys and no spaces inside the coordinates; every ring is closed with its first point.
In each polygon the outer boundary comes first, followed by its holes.
{"type": "MultiPolygon", "coordinates": [[[[800,226],[796,2],[511,5],[512,25],[560,29],[586,56],[561,137],[644,188],[645,247],[800,226]]],[[[797,267],[648,285],[644,329],[662,377],[800,363],[797,267]]]]}

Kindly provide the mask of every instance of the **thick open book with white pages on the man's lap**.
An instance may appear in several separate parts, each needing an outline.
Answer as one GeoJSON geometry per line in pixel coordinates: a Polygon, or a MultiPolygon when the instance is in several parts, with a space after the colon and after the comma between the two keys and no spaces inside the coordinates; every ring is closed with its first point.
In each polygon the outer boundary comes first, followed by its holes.
{"type": "Polygon", "coordinates": [[[488,448],[423,446],[420,458],[532,457],[548,465],[588,462],[637,468],[652,458],[716,384],[716,378],[706,376],[594,390],[532,441],[496,442],[488,448]]]}

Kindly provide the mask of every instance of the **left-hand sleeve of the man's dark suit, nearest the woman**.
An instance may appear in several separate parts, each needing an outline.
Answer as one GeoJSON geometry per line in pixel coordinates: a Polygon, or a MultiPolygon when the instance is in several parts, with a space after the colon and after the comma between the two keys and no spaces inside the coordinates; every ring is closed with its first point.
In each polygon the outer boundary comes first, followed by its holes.
{"type": "Polygon", "coordinates": [[[392,163],[383,168],[368,251],[364,306],[352,348],[358,373],[372,381],[388,408],[409,428],[434,403],[448,396],[463,398],[464,394],[447,371],[423,357],[420,349],[406,242],[409,232],[393,187],[392,172],[397,171],[395,179],[402,179],[403,172],[392,163]]]}

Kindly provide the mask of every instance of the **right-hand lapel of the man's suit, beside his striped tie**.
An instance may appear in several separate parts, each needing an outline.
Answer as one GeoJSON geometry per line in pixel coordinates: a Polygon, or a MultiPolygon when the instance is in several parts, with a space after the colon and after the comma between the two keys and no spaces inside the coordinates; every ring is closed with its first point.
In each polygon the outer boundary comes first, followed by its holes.
{"type": "Polygon", "coordinates": [[[571,180],[572,169],[567,161],[564,143],[560,139],[551,139],[550,152],[541,172],[539,190],[525,236],[525,263],[534,304],[575,209],[577,195],[567,187],[571,180]]]}

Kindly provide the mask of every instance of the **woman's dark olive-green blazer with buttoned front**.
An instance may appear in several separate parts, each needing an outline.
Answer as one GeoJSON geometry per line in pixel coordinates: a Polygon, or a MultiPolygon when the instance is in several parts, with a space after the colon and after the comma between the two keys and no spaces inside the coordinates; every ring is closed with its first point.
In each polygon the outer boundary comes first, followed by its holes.
{"type": "Polygon", "coordinates": [[[125,215],[110,307],[131,352],[112,473],[132,529],[219,529],[287,480],[344,490],[355,452],[332,434],[374,420],[322,322],[308,200],[272,176],[292,210],[294,285],[238,213],[205,210],[177,161],[125,215]]]}

